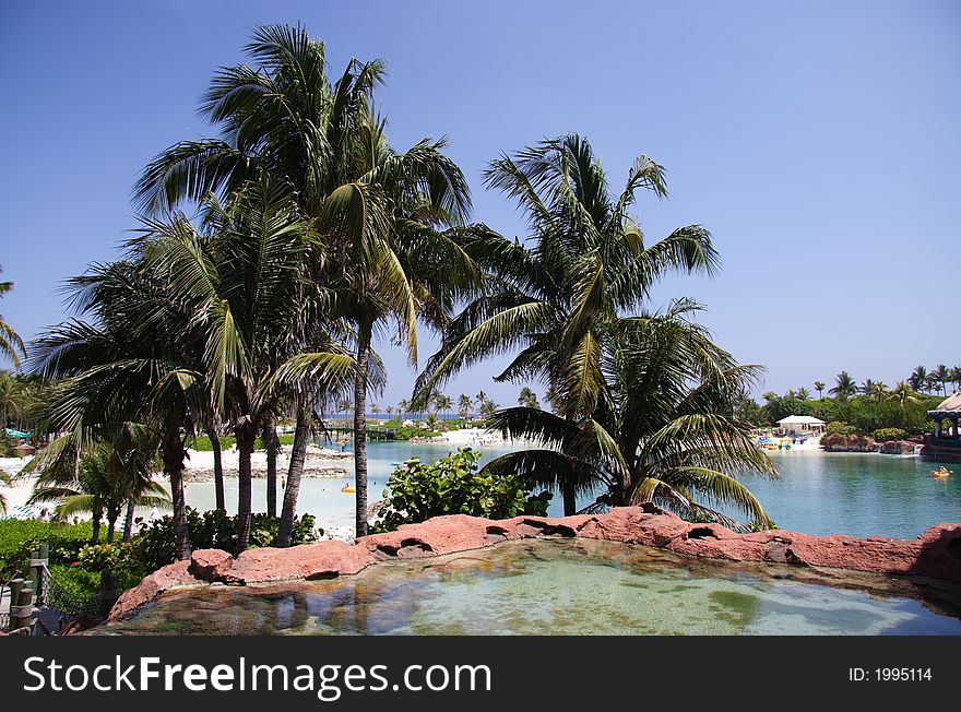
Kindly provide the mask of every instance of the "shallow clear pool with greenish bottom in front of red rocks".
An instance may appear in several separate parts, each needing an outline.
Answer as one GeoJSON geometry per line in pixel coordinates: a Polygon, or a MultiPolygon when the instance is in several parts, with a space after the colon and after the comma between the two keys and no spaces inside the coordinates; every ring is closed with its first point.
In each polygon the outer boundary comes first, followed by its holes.
{"type": "Polygon", "coordinates": [[[961,586],[524,541],[325,581],[173,591],[110,634],[961,634],[961,586]]]}

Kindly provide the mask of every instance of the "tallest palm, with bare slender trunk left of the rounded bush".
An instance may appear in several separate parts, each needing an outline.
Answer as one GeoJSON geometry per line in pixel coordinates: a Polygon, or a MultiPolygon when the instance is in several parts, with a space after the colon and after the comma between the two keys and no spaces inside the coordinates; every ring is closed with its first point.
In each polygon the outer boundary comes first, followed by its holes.
{"type": "MultiPolygon", "coordinates": [[[[335,316],[353,327],[356,377],[354,438],[357,522],[367,531],[366,396],[373,330],[395,320],[416,361],[416,313],[439,319],[470,261],[435,228],[470,207],[466,181],[443,156],[443,141],[394,152],[375,114],[380,60],[354,59],[336,83],[327,76],[323,43],[297,26],[254,29],[245,48],[256,68],[221,70],[201,112],[221,138],[182,142],[147,166],[135,194],[152,211],[211,191],[236,192],[264,174],[288,181],[321,236],[327,260],[316,274],[335,285],[335,316]]],[[[330,317],[331,315],[327,315],[330,317]]]]}

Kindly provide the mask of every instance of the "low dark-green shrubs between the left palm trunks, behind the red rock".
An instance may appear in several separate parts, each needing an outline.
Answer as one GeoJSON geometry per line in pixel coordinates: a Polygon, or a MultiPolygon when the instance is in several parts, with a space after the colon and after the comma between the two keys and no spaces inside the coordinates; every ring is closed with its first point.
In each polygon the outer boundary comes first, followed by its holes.
{"type": "MultiPolygon", "coordinates": [[[[237,548],[237,518],[228,517],[223,510],[211,510],[202,514],[187,508],[187,523],[190,527],[191,549],[224,549],[233,553],[237,548]]],[[[292,544],[316,542],[323,530],[318,530],[311,514],[302,514],[294,520],[290,534],[292,544]]],[[[280,532],[278,517],[265,513],[253,514],[250,525],[250,546],[252,548],[271,546],[280,532]]],[[[174,539],[174,518],[164,517],[151,523],[134,541],[134,556],[147,571],[176,561],[174,539]]]]}

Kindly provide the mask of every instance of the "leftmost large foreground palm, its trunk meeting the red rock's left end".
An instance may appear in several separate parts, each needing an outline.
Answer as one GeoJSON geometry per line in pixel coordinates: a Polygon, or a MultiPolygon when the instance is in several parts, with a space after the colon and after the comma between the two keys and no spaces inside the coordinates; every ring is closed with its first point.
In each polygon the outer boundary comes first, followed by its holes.
{"type": "Polygon", "coordinates": [[[206,411],[210,390],[197,357],[194,315],[180,308],[169,281],[142,254],[130,257],[95,264],[68,282],[78,319],[38,339],[29,367],[59,379],[49,389],[45,419],[49,431],[66,434],[69,447],[61,452],[79,452],[123,423],[145,423],[158,434],[182,560],[190,557],[183,434],[206,411]]]}

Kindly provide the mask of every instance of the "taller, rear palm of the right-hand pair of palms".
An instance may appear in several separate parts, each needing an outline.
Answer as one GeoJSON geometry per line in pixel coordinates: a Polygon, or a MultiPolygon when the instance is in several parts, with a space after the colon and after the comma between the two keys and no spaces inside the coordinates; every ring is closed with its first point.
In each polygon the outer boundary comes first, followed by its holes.
{"type": "MultiPolygon", "coordinates": [[[[717,257],[710,235],[690,225],[649,245],[630,207],[639,190],[667,194],[663,168],[640,156],[624,189],[612,194],[590,143],[577,134],[502,156],[485,181],[518,202],[532,233],[521,242],[484,225],[464,232],[464,249],[487,273],[488,290],[448,323],[417,388],[520,348],[495,380],[539,380],[561,417],[589,416],[603,381],[605,332],[666,273],[712,273],[717,257]]],[[[562,489],[565,511],[572,513],[574,484],[562,489]]]]}

